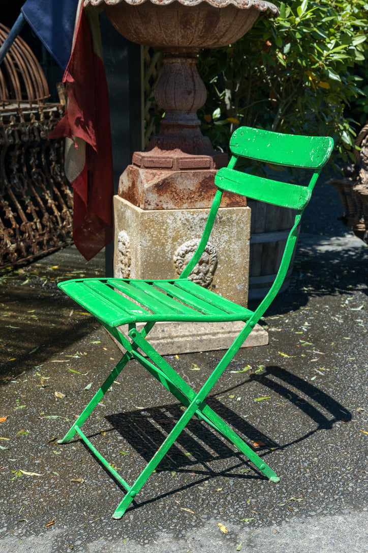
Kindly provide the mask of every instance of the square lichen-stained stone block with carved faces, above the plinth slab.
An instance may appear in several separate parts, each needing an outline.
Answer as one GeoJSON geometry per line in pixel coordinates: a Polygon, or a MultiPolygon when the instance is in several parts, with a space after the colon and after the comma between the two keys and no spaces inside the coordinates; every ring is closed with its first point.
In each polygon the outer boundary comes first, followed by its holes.
{"type": "MultiPolygon", "coordinates": [[[[142,210],[114,198],[114,275],[176,279],[191,259],[208,209],[142,210]]],[[[193,280],[238,305],[247,306],[250,210],[220,208],[193,280]]]]}

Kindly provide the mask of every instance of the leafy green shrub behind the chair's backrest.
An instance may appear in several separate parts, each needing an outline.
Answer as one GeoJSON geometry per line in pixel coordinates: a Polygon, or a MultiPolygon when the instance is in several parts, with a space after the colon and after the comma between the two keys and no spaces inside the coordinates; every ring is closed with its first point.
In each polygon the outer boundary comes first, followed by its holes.
{"type": "MultiPolygon", "coordinates": [[[[207,88],[201,129],[226,150],[239,125],[329,135],[344,161],[351,157],[350,102],[368,101],[357,65],[365,62],[365,0],[289,0],[280,17],[265,15],[237,43],[199,55],[207,88]]],[[[367,71],[366,71],[367,72],[367,71]]],[[[356,105],[355,105],[356,107],[356,105]]],[[[359,107],[359,106],[358,106],[359,107]]]]}

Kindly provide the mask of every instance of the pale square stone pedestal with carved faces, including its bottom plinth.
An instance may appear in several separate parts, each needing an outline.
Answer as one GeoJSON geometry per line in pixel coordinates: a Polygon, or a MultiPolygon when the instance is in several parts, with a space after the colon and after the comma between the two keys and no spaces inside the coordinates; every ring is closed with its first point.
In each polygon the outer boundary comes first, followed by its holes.
{"type": "MultiPolygon", "coordinates": [[[[142,210],[115,196],[114,276],[178,278],[198,245],[208,212],[209,209],[142,210]]],[[[249,235],[249,207],[220,208],[193,280],[246,306],[249,235]]],[[[241,322],[158,323],[149,341],[162,355],[227,349],[242,327],[241,322]]],[[[120,330],[127,333],[127,327],[120,330]]],[[[243,347],[267,343],[267,332],[257,325],[243,347]]]]}

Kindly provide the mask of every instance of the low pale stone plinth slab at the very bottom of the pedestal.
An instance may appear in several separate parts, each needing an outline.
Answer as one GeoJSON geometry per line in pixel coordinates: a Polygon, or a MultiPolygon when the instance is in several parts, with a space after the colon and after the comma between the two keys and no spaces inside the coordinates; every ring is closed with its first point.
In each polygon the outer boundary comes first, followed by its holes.
{"type": "MultiPolygon", "coordinates": [[[[148,341],[161,355],[175,355],[177,353],[193,353],[227,349],[242,330],[244,323],[212,322],[158,322],[148,335],[148,341]]],[[[143,324],[138,324],[140,331],[143,324]]],[[[119,327],[120,332],[127,336],[127,325],[119,327]]],[[[121,349],[125,349],[116,342],[121,349]]],[[[260,325],[256,325],[242,347],[266,346],[268,333],[260,325]]]]}

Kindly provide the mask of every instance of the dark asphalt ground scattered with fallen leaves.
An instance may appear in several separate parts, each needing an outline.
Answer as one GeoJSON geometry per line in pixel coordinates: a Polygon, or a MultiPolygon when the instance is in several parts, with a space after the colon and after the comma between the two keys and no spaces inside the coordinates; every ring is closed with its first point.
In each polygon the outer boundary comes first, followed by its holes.
{"type": "MultiPolygon", "coordinates": [[[[0,551],[368,551],[368,249],[341,211],[319,185],[289,290],[262,322],[269,345],[239,351],[208,398],[280,482],[193,419],[121,520],[119,485],[78,440],[56,443],[121,356],[56,287],[103,276],[103,255],[67,248],[3,271],[0,551]]],[[[198,388],[221,354],[167,359],[198,388]]],[[[182,413],[130,362],[83,429],[131,482],[182,413]]]]}

